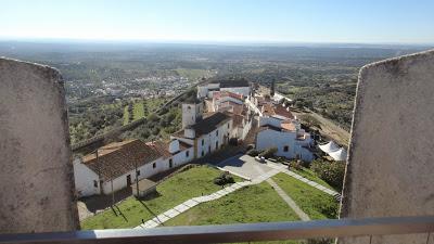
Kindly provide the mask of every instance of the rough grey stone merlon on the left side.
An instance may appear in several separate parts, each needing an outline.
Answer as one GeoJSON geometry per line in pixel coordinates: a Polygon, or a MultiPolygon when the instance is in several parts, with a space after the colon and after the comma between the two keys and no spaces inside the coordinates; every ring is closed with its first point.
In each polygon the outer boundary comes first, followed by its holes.
{"type": "Polygon", "coordinates": [[[0,232],[78,227],[63,79],[0,59],[0,232]]]}

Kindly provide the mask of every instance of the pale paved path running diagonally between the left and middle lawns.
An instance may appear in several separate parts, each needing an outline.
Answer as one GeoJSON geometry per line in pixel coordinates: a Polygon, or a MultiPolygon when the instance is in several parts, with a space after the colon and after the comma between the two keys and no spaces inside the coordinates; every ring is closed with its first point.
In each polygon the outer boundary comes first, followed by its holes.
{"type": "Polygon", "coordinates": [[[261,183],[263,181],[271,178],[272,176],[277,175],[278,172],[279,172],[279,170],[272,169],[272,170],[266,172],[265,175],[261,175],[261,176],[253,179],[252,181],[237,182],[237,183],[231,184],[230,187],[221,189],[220,191],[214,192],[213,194],[193,197],[191,200],[188,200],[188,201],[179,204],[178,206],[175,206],[171,209],[168,209],[167,211],[165,211],[163,214],[159,214],[158,216],[154,217],[151,220],[148,220],[146,222],[136,227],[135,229],[155,228],[201,203],[206,203],[206,202],[209,202],[213,200],[218,200],[218,198],[220,198],[231,192],[234,192],[241,188],[244,188],[246,185],[261,183]]]}

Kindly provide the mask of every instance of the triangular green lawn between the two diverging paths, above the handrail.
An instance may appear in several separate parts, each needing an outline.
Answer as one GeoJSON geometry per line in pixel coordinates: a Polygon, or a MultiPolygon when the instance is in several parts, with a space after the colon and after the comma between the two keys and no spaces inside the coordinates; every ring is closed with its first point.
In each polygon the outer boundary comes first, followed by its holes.
{"type": "Polygon", "coordinates": [[[242,188],[219,200],[200,204],[165,226],[202,226],[298,220],[267,183],[242,188]]]}

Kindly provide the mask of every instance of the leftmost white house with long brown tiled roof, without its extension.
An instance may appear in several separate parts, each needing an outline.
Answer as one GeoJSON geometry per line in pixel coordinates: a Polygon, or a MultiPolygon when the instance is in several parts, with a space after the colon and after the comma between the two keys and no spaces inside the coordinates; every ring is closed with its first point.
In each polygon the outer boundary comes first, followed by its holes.
{"type": "Polygon", "coordinates": [[[140,140],[102,146],[98,154],[95,152],[74,160],[77,194],[108,194],[129,187],[136,178],[140,180],[156,174],[162,157],[157,151],[140,140]]]}

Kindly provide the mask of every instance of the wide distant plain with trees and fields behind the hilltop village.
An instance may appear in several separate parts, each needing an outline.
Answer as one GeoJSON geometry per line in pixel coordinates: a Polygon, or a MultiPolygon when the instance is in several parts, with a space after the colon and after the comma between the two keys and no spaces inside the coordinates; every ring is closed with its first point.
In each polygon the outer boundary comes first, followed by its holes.
{"type": "MultiPolygon", "coordinates": [[[[349,131],[357,75],[375,61],[426,50],[374,44],[157,44],[0,42],[0,56],[58,68],[64,78],[72,143],[141,117],[146,123],[123,138],[145,141],[180,129],[179,103],[155,116],[170,98],[202,79],[246,78],[293,99],[349,131]]],[[[194,91],[183,100],[194,98],[194,91]]]]}

